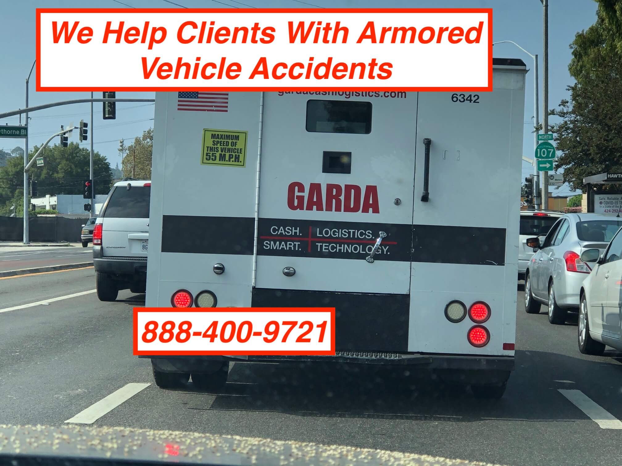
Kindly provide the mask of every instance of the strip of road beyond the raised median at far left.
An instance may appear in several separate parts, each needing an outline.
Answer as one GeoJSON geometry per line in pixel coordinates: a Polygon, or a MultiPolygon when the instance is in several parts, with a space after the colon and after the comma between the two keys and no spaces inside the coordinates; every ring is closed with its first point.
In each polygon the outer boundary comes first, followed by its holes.
{"type": "Polygon", "coordinates": [[[93,247],[3,247],[0,245],[0,272],[21,268],[47,267],[69,263],[93,262],[93,247]]]}

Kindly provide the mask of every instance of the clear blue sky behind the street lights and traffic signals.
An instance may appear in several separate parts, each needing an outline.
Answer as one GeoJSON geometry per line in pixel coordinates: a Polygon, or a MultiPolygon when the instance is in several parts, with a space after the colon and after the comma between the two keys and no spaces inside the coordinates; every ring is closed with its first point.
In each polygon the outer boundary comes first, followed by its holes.
{"type": "MultiPolygon", "coordinates": [[[[119,0],[133,7],[174,7],[165,0],[119,0]]],[[[308,4],[321,7],[492,7],[493,8],[493,39],[513,40],[540,58],[540,92],[542,99],[542,5],[539,0],[305,0],[308,4]]],[[[0,78],[2,93],[0,94],[0,111],[9,111],[24,107],[24,81],[30,71],[35,57],[35,8],[37,7],[124,7],[114,0],[78,1],[78,0],[26,0],[9,2],[2,0],[2,16],[0,16],[0,43],[4,44],[0,58],[0,78]],[[11,7],[7,7],[11,4],[11,7]],[[7,45],[12,45],[7,47],[7,45]]],[[[297,0],[175,0],[175,3],[186,7],[223,7],[222,3],[244,7],[309,7],[297,0]]],[[[593,0],[549,0],[549,107],[555,107],[559,101],[568,96],[566,86],[573,80],[568,73],[570,61],[569,44],[575,33],[593,24],[596,17],[596,3],[593,0]]],[[[511,44],[494,46],[495,57],[522,58],[532,68],[532,59],[511,44]]],[[[67,70],[72,66],[80,66],[80,57],[67,57],[67,70]]],[[[110,66],[114,66],[111,63],[110,66]]],[[[123,70],[119,70],[123,72],[123,70]]],[[[524,117],[524,155],[533,157],[533,78],[527,74],[524,117]]],[[[87,98],[89,93],[38,93],[35,92],[34,73],[30,78],[30,106],[66,99],[87,98]]],[[[97,93],[101,97],[100,93],[97,93]]],[[[152,98],[153,93],[121,93],[123,98],[152,98]]],[[[95,150],[105,155],[111,166],[121,166],[121,158],[117,148],[119,139],[134,139],[142,131],[153,124],[154,106],[145,103],[117,104],[116,120],[101,119],[101,103],[94,106],[95,150]]],[[[542,103],[540,105],[542,121],[542,103]]],[[[23,117],[22,117],[23,118],[23,117]]],[[[55,107],[30,114],[29,144],[42,144],[50,135],[60,129],[61,124],[80,119],[89,121],[90,104],[74,104],[55,107]]],[[[19,117],[0,120],[0,124],[17,124],[19,117]]],[[[77,139],[74,132],[74,141],[77,139]]],[[[0,148],[10,150],[18,144],[17,139],[0,139],[0,148]]],[[[127,144],[127,142],[126,142],[127,144]]],[[[89,142],[84,143],[89,147],[89,142]]],[[[23,147],[23,145],[22,145],[23,147]]],[[[531,165],[523,163],[522,177],[531,173],[531,165]]],[[[567,186],[552,189],[552,194],[570,193],[567,186]]]]}

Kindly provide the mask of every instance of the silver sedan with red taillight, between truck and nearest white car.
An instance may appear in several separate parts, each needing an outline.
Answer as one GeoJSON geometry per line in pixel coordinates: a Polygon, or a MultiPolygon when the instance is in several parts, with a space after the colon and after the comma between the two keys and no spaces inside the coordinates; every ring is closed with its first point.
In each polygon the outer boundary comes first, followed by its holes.
{"type": "Polygon", "coordinates": [[[541,304],[547,304],[549,322],[563,324],[568,311],[577,312],[581,285],[592,270],[581,253],[604,252],[621,226],[622,217],[565,214],[545,237],[527,239],[527,245],[536,245],[525,272],[527,313],[537,314],[541,304]]]}

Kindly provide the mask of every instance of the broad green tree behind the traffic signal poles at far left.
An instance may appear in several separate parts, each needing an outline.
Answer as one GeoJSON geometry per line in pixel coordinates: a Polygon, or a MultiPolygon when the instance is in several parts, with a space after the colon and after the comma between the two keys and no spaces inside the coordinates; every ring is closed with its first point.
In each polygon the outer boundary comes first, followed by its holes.
{"type": "MultiPolygon", "coordinates": [[[[32,158],[39,150],[35,146],[30,152],[32,158]]],[[[45,148],[44,167],[36,165],[30,168],[29,176],[37,181],[37,196],[45,194],[82,194],[82,180],[90,178],[90,150],[81,148],[78,144],[69,144],[68,147],[53,145],[45,148]]],[[[99,152],[93,154],[93,174],[95,194],[107,194],[112,181],[110,164],[106,157],[99,152]]],[[[16,200],[16,196],[23,199],[24,160],[21,157],[11,157],[6,167],[0,167],[0,205],[16,200]]],[[[21,201],[23,202],[23,200],[21,201]]],[[[20,211],[22,204],[19,204],[20,211]]],[[[10,207],[10,206],[9,206],[10,207]]]]}

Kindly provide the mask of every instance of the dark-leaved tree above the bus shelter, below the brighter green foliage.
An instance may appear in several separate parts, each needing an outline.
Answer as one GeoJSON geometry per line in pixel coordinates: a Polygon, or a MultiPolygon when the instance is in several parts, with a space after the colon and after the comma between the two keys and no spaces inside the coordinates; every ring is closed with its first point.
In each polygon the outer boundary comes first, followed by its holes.
{"type": "Polygon", "coordinates": [[[562,119],[551,127],[561,154],[555,170],[564,168],[564,181],[575,190],[583,188],[585,176],[622,167],[622,57],[608,70],[569,86],[570,100],[551,112],[562,119]]]}

